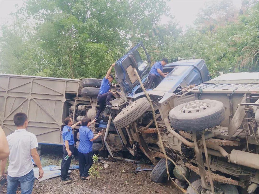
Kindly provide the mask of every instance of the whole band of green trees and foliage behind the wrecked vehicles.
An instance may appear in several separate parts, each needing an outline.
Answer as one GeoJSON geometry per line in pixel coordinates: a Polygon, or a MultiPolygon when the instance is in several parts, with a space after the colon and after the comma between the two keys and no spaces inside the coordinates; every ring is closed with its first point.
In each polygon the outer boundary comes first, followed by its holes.
{"type": "Polygon", "coordinates": [[[1,26],[1,73],[102,78],[110,64],[143,41],[152,62],[204,58],[215,71],[258,72],[259,2],[208,4],[182,33],[164,1],[26,1],[1,26]],[[216,14],[215,14],[216,13],[216,14]]]}

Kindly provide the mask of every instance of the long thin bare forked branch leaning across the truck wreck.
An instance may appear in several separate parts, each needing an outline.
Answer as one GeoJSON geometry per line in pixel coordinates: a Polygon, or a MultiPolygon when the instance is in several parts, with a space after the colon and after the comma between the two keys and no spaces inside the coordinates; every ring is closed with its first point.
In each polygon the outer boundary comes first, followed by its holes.
{"type": "MultiPolygon", "coordinates": [[[[160,145],[161,145],[162,152],[164,153],[165,158],[166,158],[166,171],[167,171],[168,180],[169,180],[169,170],[168,170],[168,166],[167,166],[167,160],[170,160],[170,161],[175,165],[175,167],[177,168],[177,170],[179,171],[179,173],[184,177],[185,181],[188,182],[188,184],[193,188],[193,190],[194,190],[197,194],[199,194],[198,191],[192,186],[192,184],[190,183],[190,181],[188,181],[188,179],[182,174],[182,171],[181,171],[180,169],[178,169],[177,164],[176,164],[171,158],[169,158],[169,157],[167,156],[166,151],[165,151],[165,149],[164,149],[164,145],[163,145],[163,143],[162,143],[161,133],[160,133],[160,131],[159,131],[159,129],[158,129],[158,125],[157,125],[157,121],[156,121],[156,116],[155,116],[155,109],[154,109],[154,107],[153,107],[152,100],[150,99],[150,97],[149,97],[149,95],[148,95],[148,93],[147,93],[145,87],[143,86],[142,81],[141,81],[141,79],[140,79],[140,77],[139,77],[139,74],[138,74],[136,68],[133,68],[133,70],[134,70],[134,72],[135,72],[135,74],[136,74],[136,76],[137,76],[137,78],[138,78],[138,80],[139,80],[139,83],[140,83],[141,88],[143,89],[143,92],[144,92],[144,93],[146,94],[146,96],[147,96],[147,99],[148,99],[148,101],[149,101],[149,103],[150,103],[150,106],[151,106],[151,109],[152,109],[152,114],[153,114],[153,118],[154,118],[156,130],[157,130],[158,140],[159,140],[159,143],[160,143],[160,145]]],[[[170,178],[171,178],[171,177],[170,177],[170,178]]],[[[175,186],[176,186],[178,189],[180,189],[183,193],[186,193],[184,189],[182,189],[181,187],[179,187],[179,186],[176,184],[176,182],[174,182],[172,179],[171,179],[171,181],[175,184],[175,186]],[[183,190],[184,190],[184,191],[183,191],[183,190]]]]}

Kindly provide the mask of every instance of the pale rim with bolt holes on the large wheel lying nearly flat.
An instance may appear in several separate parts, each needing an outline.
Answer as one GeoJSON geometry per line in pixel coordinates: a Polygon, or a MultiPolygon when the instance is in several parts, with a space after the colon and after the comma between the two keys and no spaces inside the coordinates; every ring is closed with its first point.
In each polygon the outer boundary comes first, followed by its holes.
{"type": "Polygon", "coordinates": [[[202,101],[194,101],[187,103],[184,107],[180,109],[181,113],[195,113],[204,111],[210,108],[210,104],[202,101]]]}

